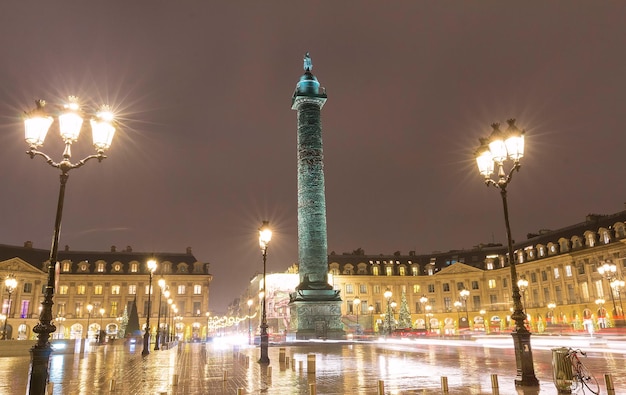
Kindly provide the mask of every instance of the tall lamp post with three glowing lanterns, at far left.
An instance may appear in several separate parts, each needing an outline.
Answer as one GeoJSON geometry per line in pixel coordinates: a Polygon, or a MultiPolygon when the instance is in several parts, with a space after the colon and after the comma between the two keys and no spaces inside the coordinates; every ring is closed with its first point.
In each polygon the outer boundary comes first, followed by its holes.
{"type": "Polygon", "coordinates": [[[115,134],[115,126],[113,121],[113,113],[108,106],[101,106],[90,120],[91,130],[93,132],[93,145],[96,149],[95,155],[89,155],[84,159],[72,163],[71,146],[78,140],[81,126],[83,123],[82,114],[78,99],[70,96],[69,102],[60,110],[58,116],[58,127],[61,138],[65,143],[63,151],[63,159],[55,162],[47,154],[38,150],[48,133],[48,129],[54,122],[54,119],[46,113],[43,100],[36,101],[37,107],[25,113],[24,128],[25,140],[29,145],[26,153],[32,158],[41,156],[52,167],[61,170],[59,198],[57,202],[56,219],[54,221],[54,234],[52,237],[52,247],[50,248],[50,259],[48,261],[48,281],[44,289],[44,299],[41,303],[42,312],[39,315],[39,322],[33,328],[33,332],[37,334],[37,342],[31,348],[31,362],[29,370],[29,394],[44,394],[48,384],[48,364],[52,347],[48,341],[50,334],[56,330],[52,322],[52,305],[54,297],[54,287],[56,282],[55,266],[57,265],[57,253],[59,250],[59,236],[61,231],[61,218],[63,216],[63,200],[65,197],[65,185],[69,177],[70,170],[82,167],[91,159],[102,161],[106,158],[104,152],[111,146],[113,135],[115,134]]]}

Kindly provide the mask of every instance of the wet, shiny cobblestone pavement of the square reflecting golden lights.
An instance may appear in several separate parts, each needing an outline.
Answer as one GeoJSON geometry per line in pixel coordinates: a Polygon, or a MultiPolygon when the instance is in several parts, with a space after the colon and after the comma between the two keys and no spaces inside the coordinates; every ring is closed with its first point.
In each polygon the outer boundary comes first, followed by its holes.
{"type": "MultiPolygon", "coordinates": [[[[539,388],[516,388],[515,357],[510,348],[474,342],[296,343],[272,346],[269,368],[259,365],[259,350],[210,344],[180,344],[142,357],[141,347],[92,346],[84,356],[53,355],[50,382],[54,395],[65,394],[557,394],[551,352],[533,349],[539,388]],[[471,345],[470,345],[471,344],[471,345]],[[281,348],[287,363],[279,362],[281,348]],[[315,374],[308,355],[315,355],[315,374]],[[312,368],[312,366],[311,366],[312,368]],[[497,388],[492,385],[497,374],[497,388]]],[[[535,347],[535,346],[533,346],[535,347]]],[[[610,373],[616,394],[626,393],[624,352],[589,352],[585,364],[604,388],[610,373]]],[[[0,358],[1,394],[24,394],[30,358],[0,358]]]]}

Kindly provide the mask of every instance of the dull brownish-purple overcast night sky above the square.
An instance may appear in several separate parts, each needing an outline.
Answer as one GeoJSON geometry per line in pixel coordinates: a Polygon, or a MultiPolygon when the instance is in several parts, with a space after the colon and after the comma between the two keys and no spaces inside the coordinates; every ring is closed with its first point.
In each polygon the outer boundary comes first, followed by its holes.
{"type": "MultiPolygon", "coordinates": [[[[625,15],[618,1],[3,2],[0,243],[52,238],[59,171],[25,155],[21,113],[106,102],[119,132],[70,173],[61,248],[192,247],[225,311],[262,271],[262,220],[268,271],[297,261],[291,96],[307,51],[328,94],[329,252],[505,243],[473,153],[507,118],[527,132],[514,239],[621,211],[625,15]]],[[[56,130],[42,150],[61,158],[56,130]]]]}

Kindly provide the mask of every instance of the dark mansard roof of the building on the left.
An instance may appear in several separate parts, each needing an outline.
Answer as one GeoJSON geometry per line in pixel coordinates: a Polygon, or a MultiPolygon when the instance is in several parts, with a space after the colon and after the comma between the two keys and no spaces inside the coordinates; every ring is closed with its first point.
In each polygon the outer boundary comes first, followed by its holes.
{"type": "MultiPolygon", "coordinates": [[[[32,243],[26,242],[24,246],[11,246],[0,244],[0,262],[10,260],[13,258],[19,258],[24,262],[32,265],[38,270],[41,270],[43,264],[50,259],[50,251],[47,249],[33,248],[32,243]]],[[[145,263],[150,259],[156,259],[159,263],[171,263],[172,269],[175,269],[179,265],[186,266],[189,270],[179,271],[176,270],[176,274],[199,274],[197,270],[194,270],[198,265],[202,266],[201,273],[209,274],[208,263],[200,263],[196,257],[192,254],[191,249],[188,248],[186,253],[172,253],[172,252],[134,252],[131,248],[123,251],[117,251],[115,248],[111,248],[111,251],[72,251],[68,248],[58,252],[59,262],[72,262],[70,273],[78,273],[78,263],[87,262],[90,263],[87,273],[95,273],[94,263],[103,261],[105,265],[105,273],[113,273],[111,266],[113,263],[121,263],[123,270],[120,274],[145,274],[147,273],[145,263]],[[131,273],[129,270],[129,264],[131,262],[138,262],[137,272],[131,273]]],[[[174,270],[173,270],[174,271],[174,270]]],[[[157,269],[157,273],[159,269],[157,269]]],[[[84,274],[84,271],[80,272],[84,274]]],[[[98,273],[102,274],[102,273],[98,273]]],[[[117,273],[116,273],[117,274],[117,273]]]]}

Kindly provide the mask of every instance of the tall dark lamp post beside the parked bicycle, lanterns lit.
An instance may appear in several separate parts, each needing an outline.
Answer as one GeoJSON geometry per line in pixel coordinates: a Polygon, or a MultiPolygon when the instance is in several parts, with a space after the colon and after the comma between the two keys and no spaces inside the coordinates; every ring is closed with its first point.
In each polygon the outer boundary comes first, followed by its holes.
{"type": "Polygon", "coordinates": [[[530,344],[530,331],[524,325],[526,314],[522,307],[521,295],[517,285],[517,272],[515,268],[515,255],[513,251],[513,239],[509,225],[509,210],[506,198],[506,188],[511,182],[513,173],[519,171],[520,159],[524,156],[524,131],[515,126],[515,119],[507,120],[508,128],[505,132],[500,130],[500,124],[491,125],[493,131],[486,139],[480,139],[481,146],[476,152],[478,170],[483,175],[485,184],[492,185],[500,190],[502,206],[504,209],[504,224],[508,245],[509,268],[511,270],[511,286],[513,288],[513,314],[515,329],[511,333],[515,348],[515,361],[517,365],[517,386],[538,386],[539,380],[535,376],[533,354],[530,344]],[[504,171],[504,162],[513,161],[508,174],[504,171]],[[492,178],[495,166],[498,167],[497,180],[492,178]]]}

